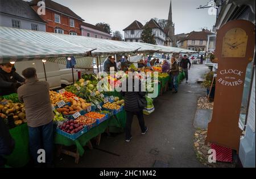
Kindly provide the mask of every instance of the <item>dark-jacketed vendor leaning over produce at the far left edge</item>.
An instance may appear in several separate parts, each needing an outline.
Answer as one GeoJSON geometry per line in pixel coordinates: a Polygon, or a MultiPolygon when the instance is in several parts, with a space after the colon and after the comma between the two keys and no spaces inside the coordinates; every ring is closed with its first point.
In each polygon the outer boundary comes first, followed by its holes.
{"type": "Polygon", "coordinates": [[[13,65],[0,64],[0,95],[17,93],[17,89],[24,81],[25,79],[15,72],[13,65]]]}

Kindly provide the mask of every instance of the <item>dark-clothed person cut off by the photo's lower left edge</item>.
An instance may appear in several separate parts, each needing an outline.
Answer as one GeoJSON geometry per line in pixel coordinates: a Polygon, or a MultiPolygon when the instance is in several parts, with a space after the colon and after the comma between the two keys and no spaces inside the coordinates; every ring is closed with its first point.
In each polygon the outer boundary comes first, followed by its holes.
{"type": "Polygon", "coordinates": [[[3,155],[10,155],[14,150],[15,142],[9,133],[9,129],[0,118],[0,168],[5,166],[6,159],[3,155]]]}

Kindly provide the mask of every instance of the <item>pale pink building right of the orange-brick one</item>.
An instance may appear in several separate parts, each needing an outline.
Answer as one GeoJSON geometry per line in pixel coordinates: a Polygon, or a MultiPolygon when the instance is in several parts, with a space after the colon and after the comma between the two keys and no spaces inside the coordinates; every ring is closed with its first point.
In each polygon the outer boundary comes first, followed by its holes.
{"type": "Polygon", "coordinates": [[[91,38],[99,39],[112,39],[111,34],[104,32],[100,27],[94,26],[93,24],[81,23],[82,36],[88,36],[91,38]]]}

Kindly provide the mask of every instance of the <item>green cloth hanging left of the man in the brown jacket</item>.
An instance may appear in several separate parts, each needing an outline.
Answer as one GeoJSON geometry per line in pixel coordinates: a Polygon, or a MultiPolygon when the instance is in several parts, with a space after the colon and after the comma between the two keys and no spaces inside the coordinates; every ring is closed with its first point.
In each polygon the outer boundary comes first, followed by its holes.
{"type": "Polygon", "coordinates": [[[11,155],[5,156],[7,165],[12,167],[22,167],[30,160],[27,123],[11,128],[9,132],[15,140],[15,148],[11,155]]]}

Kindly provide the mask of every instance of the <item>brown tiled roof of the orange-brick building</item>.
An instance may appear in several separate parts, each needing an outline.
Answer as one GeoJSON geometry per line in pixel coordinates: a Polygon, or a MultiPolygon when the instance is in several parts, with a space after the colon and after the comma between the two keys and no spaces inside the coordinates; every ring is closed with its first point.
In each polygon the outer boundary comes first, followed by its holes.
{"type": "MultiPolygon", "coordinates": [[[[42,0],[32,0],[30,1],[30,5],[37,6],[39,1],[42,1],[42,0]]],[[[44,0],[44,2],[46,2],[46,7],[48,7],[49,9],[53,9],[53,10],[59,11],[60,13],[72,16],[73,18],[83,20],[80,16],[75,14],[71,9],[69,9],[66,6],[60,5],[59,3],[56,3],[51,0],[44,0]]]]}

